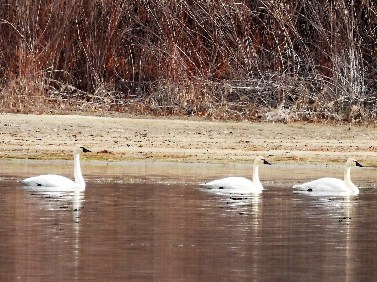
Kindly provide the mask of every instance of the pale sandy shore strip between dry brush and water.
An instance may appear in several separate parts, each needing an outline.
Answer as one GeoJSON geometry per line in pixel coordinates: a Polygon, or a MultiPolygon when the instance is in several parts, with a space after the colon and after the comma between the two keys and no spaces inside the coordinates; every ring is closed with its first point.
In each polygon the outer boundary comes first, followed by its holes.
{"type": "Polygon", "coordinates": [[[211,122],[83,115],[0,115],[3,159],[72,159],[75,144],[106,161],[252,164],[263,155],[276,164],[334,164],[354,156],[377,166],[372,125],[211,122]]]}

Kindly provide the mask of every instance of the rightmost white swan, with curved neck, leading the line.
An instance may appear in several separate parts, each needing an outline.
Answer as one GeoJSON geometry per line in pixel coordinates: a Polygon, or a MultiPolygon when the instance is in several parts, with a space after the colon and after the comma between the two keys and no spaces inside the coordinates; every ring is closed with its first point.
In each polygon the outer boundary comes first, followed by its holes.
{"type": "Polygon", "coordinates": [[[293,189],[301,191],[348,192],[358,194],[359,189],[357,189],[354,183],[351,182],[351,178],[349,177],[351,167],[355,166],[363,167],[363,165],[359,164],[356,159],[349,158],[344,168],[344,180],[325,177],[311,182],[294,185],[293,189]]]}

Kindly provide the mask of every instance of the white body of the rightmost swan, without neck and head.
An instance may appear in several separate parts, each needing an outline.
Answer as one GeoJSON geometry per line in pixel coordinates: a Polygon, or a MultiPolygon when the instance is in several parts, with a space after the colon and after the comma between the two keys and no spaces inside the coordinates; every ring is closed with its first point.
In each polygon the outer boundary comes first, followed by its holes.
{"type": "Polygon", "coordinates": [[[317,180],[313,180],[303,184],[297,184],[293,186],[294,189],[302,191],[334,191],[334,192],[350,192],[343,180],[324,177],[317,180]]]}

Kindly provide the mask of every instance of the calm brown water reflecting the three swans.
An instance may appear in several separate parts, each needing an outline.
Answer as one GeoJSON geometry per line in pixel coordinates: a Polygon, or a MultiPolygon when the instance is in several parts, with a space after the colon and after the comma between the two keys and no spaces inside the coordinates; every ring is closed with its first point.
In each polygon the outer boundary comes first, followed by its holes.
{"type": "Polygon", "coordinates": [[[367,281],[377,274],[374,168],[357,196],[296,194],[343,168],[261,166],[261,194],[198,183],[251,166],[82,165],[84,191],[22,188],[72,162],[0,162],[0,281],[367,281]]]}

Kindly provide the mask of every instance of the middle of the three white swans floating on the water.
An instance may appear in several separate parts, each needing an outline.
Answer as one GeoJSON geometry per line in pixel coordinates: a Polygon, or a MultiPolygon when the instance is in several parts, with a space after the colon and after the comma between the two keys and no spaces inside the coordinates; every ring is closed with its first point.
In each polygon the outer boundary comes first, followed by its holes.
{"type": "Polygon", "coordinates": [[[255,192],[262,191],[263,186],[259,181],[258,167],[261,164],[270,164],[264,157],[256,157],[253,165],[253,181],[244,177],[226,177],[223,179],[213,180],[208,183],[201,183],[199,185],[207,188],[215,189],[239,189],[239,190],[253,190],[255,192]]]}

